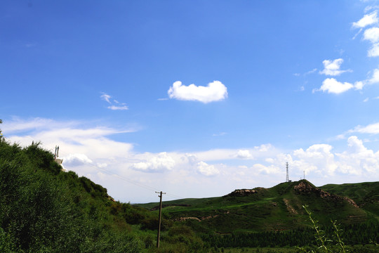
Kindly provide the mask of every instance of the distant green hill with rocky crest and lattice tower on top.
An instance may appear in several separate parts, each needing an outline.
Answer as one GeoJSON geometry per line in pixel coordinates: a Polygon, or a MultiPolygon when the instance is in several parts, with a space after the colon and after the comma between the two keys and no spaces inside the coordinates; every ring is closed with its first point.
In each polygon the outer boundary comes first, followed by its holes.
{"type": "MultiPolygon", "coordinates": [[[[287,231],[309,226],[303,205],[320,223],[357,224],[379,219],[379,182],[326,185],[307,180],[272,188],[234,190],[222,197],[163,202],[163,212],[197,231],[287,231]]],[[[158,203],[138,205],[156,209],[158,203]]]]}

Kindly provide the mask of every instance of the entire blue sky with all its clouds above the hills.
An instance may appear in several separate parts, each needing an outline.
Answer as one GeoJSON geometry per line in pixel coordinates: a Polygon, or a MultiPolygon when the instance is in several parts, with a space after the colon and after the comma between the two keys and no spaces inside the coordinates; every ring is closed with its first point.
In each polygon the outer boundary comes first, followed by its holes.
{"type": "Polygon", "coordinates": [[[378,1],[2,1],[8,141],[122,202],[379,179],[378,1]]]}

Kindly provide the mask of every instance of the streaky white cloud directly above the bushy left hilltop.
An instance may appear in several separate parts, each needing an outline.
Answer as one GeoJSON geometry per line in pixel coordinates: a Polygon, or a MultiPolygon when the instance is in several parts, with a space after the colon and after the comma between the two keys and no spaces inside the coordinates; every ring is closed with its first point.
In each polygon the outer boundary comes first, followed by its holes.
{"type": "Polygon", "coordinates": [[[59,145],[62,156],[85,154],[88,157],[114,157],[126,155],[133,148],[130,143],[112,141],[106,136],[128,133],[135,129],[112,129],[105,126],[86,128],[84,125],[81,122],[61,122],[53,119],[16,118],[4,122],[3,131],[10,141],[23,146],[30,145],[32,141],[41,141],[44,147],[53,150],[55,145],[59,145]],[[15,135],[20,131],[22,134],[15,135]]]}

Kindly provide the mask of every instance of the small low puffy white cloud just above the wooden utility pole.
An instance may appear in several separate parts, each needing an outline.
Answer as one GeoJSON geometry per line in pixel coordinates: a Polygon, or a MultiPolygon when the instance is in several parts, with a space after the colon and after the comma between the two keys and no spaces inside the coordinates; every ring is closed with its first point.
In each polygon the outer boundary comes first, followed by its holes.
{"type": "Polygon", "coordinates": [[[132,169],[140,171],[164,171],[171,170],[175,166],[175,160],[166,152],[159,153],[145,162],[136,162],[131,165],[132,169]]]}

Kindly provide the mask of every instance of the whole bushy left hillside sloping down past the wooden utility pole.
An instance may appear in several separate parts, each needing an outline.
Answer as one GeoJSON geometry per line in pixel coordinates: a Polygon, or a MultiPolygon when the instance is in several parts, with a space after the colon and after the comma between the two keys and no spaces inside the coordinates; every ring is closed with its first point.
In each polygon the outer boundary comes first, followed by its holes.
{"type": "MultiPolygon", "coordinates": [[[[0,252],[156,252],[157,212],[61,169],[39,143],[0,138],[0,252]]],[[[163,219],[159,252],[207,249],[190,228],[163,219]]]]}

